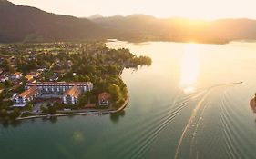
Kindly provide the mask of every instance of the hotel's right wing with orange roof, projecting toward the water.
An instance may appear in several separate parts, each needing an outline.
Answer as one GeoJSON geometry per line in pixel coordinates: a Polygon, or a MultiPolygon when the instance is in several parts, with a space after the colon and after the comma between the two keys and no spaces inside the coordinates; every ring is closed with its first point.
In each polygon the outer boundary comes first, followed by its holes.
{"type": "Polygon", "coordinates": [[[63,104],[77,104],[78,97],[82,94],[82,90],[77,85],[68,89],[62,97],[63,104]]]}

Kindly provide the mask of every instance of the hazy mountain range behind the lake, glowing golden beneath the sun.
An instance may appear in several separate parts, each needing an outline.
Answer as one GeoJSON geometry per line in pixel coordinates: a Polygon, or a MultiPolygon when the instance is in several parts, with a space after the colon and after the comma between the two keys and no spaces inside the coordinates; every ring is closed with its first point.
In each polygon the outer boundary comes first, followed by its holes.
{"type": "Polygon", "coordinates": [[[256,39],[256,20],[251,19],[204,21],[159,19],[150,15],[93,15],[77,18],[46,13],[6,0],[0,0],[0,19],[1,43],[105,38],[226,43],[231,40],[256,39]]]}

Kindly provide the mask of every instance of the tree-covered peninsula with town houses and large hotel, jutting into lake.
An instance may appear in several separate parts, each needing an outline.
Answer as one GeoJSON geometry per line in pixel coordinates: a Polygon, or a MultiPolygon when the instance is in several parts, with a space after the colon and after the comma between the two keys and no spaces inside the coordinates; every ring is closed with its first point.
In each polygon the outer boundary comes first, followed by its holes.
{"type": "Polygon", "coordinates": [[[0,120],[116,113],[128,104],[125,68],[148,56],[104,41],[0,45],[0,120]]]}

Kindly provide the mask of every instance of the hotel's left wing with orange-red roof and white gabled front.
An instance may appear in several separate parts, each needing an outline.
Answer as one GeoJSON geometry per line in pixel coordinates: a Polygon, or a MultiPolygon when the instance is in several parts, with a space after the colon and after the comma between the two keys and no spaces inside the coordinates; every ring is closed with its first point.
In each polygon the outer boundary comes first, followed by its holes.
{"type": "Polygon", "coordinates": [[[27,102],[35,100],[38,94],[39,94],[39,91],[37,86],[33,86],[28,90],[26,90],[25,92],[23,92],[22,94],[18,94],[15,97],[15,104],[25,106],[27,102]]]}

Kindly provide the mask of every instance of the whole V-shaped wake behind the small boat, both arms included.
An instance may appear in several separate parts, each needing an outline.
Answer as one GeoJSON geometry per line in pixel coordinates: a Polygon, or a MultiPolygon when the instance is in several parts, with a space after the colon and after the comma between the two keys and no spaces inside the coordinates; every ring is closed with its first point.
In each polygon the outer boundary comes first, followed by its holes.
{"type": "MultiPolygon", "coordinates": [[[[145,123],[139,124],[138,127],[133,128],[133,131],[128,132],[127,134],[123,134],[120,136],[120,140],[122,138],[129,138],[130,135],[133,134],[141,134],[138,135],[138,138],[133,141],[128,141],[128,147],[124,145],[122,150],[122,154],[118,154],[118,158],[143,158],[145,152],[148,150],[148,147],[156,140],[156,138],[159,136],[159,134],[170,124],[172,121],[184,110],[187,108],[190,104],[190,102],[193,100],[200,100],[193,113],[191,114],[191,117],[189,119],[189,123],[186,125],[185,129],[182,132],[182,135],[179,139],[179,145],[175,154],[175,158],[179,155],[179,148],[180,145],[183,142],[183,139],[186,135],[186,133],[189,130],[189,127],[194,123],[197,114],[199,113],[200,108],[203,109],[203,111],[200,113],[200,116],[203,116],[204,110],[207,108],[206,104],[203,104],[207,97],[210,95],[210,93],[214,90],[214,88],[220,87],[220,86],[230,86],[235,84],[241,84],[241,83],[230,83],[230,84],[216,84],[207,88],[201,88],[197,92],[186,94],[184,95],[182,91],[179,91],[171,104],[164,104],[159,105],[161,109],[156,110],[152,113],[152,115],[148,115],[145,119],[145,123]],[[144,132],[144,133],[142,133],[144,132]],[[136,147],[134,149],[134,147],[136,147]],[[125,150],[124,150],[125,149],[125,150]]],[[[200,120],[196,124],[196,129],[194,132],[193,139],[195,138],[195,135],[197,133],[198,126],[201,122],[200,120]]],[[[193,140],[192,139],[192,140],[193,140]]],[[[193,151],[192,149],[190,150],[193,151]]]]}

